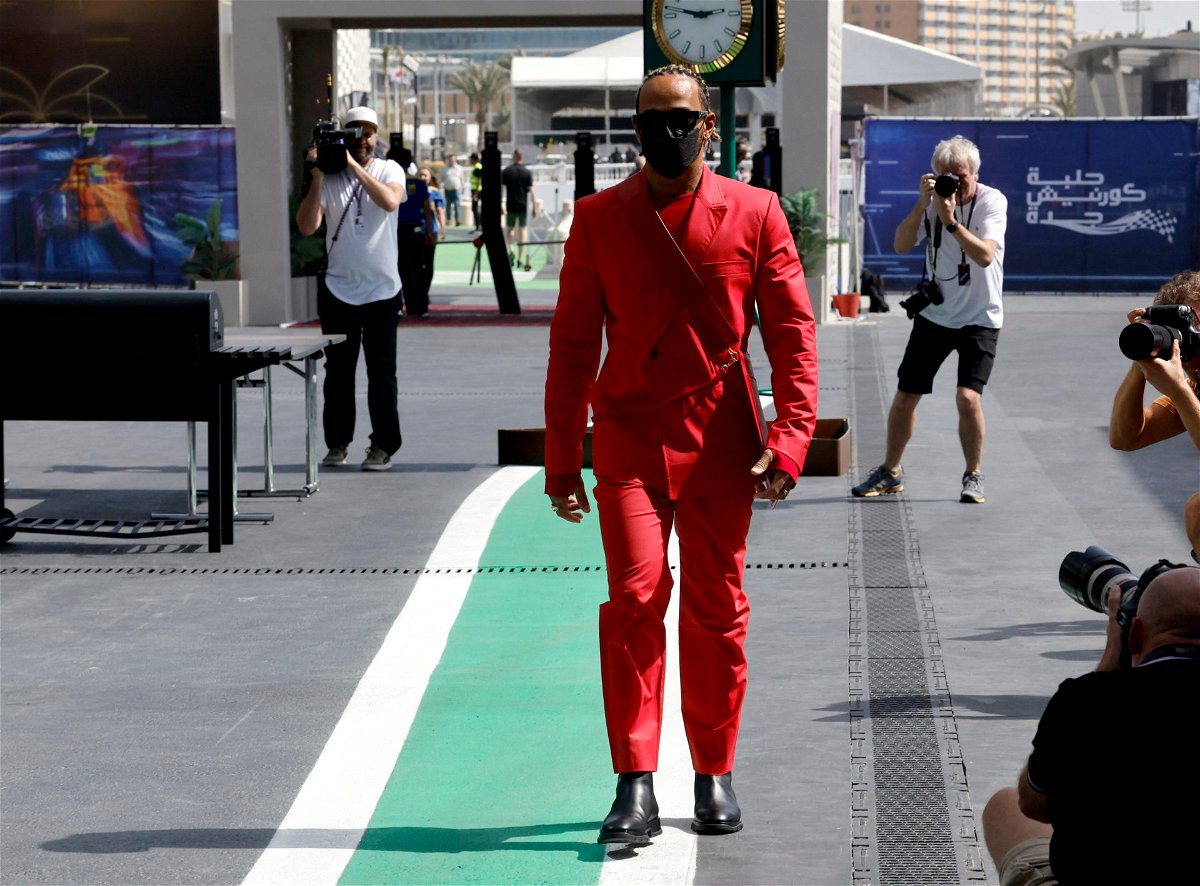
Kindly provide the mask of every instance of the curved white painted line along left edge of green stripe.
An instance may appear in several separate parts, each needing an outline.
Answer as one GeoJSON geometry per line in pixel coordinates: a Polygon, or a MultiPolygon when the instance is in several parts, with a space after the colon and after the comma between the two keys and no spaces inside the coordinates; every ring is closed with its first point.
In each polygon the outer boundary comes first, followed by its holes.
{"type": "Polygon", "coordinates": [[[458,505],[317,765],[244,880],[336,886],[396,766],[496,519],[535,467],[503,467],[458,505]],[[318,839],[314,839],[318,838],[318,839]],[[314,845],[314,843],[320,845],[314,845]]]}

